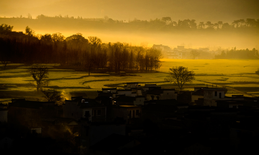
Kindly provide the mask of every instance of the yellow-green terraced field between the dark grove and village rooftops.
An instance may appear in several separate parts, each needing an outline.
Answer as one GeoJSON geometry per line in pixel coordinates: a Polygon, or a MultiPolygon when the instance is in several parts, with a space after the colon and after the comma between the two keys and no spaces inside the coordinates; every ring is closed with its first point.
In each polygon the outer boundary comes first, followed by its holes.
{"type": "MultiPolygon", "coordinates": [[[[97,90],[117,87],[123,89],[127,82],[157,84],[163,88],[178,88],[169,82],[164,82],[168,70],[172,66],[184,66],[195,72],[193,83],[187,83],[184,90],[193,90],[195,86],[209,86],[229,88],[227,96],[244,94],[245,96],[259,96],[259,76],[255,71],[259,68],[259,60],[181,60],[161,59],[162,66],[159,73],[135,73],[131,76],[113,76],[76,72],[74,70],[56,69],[54,64],[41,64],[49,67],[50,88],[61,91],[66,99],[70,93],[85,92],[89,98],[97,96],[97,90]],[[132,76],[134,75],[134,76],[132,76]]],[[[39,64],[35,64],[39,65],[39,64]]],[[[30,66],[23,64],[8,64],[7,69],[0,67],[0,103],[10,102],[12,98],[26,98],[27,100],[44,101],[42,94],[36,89],[29,89],[29,82],[33,78],[26,72],[30,66]]]]}

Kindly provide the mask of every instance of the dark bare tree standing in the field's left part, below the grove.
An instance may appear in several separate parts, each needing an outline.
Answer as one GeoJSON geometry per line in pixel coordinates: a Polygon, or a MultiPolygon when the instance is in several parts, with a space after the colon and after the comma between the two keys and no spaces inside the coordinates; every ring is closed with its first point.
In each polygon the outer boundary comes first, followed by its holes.
{"type": "Polygon", "coordinates": [[[39,93],[39,89],[48,84],[48,68],[41,66],[33,66],[28,70],[28,73],[33,77],[34,80],[34,82],[31,82],[31,85],[33,86],[33,88],[37,88],[37,92],[39,93]]]}

